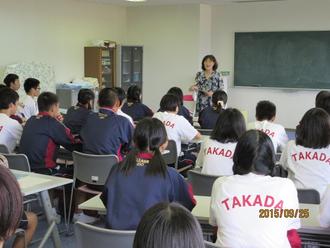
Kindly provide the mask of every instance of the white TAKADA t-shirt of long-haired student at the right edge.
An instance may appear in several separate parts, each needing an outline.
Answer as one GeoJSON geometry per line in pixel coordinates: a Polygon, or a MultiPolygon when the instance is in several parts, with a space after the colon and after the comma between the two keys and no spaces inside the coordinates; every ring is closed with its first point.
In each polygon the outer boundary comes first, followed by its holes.
{"type": "Polygon", "coordinates": [[[282,153],[280,164],[288,170],[288,177],[298,189],[316,189],[322,197],[330,184],[330,146],[312,149],[297,146],[291,140],[282,153]]]}

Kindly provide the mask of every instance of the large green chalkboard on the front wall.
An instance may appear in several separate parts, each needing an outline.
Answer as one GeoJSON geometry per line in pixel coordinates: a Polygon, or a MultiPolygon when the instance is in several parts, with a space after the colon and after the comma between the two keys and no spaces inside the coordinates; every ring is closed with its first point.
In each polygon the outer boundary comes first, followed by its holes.
{"type": "Polygon", "coordinates": [[[330,89],[330,31],[235,33],[234,85],[330,89]]]}

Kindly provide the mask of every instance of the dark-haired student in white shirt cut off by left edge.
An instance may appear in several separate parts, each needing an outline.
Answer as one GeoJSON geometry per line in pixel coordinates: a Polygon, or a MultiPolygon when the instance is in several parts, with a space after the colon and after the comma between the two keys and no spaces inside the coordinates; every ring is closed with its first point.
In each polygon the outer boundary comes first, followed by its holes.
{"type": "Polygon", "coordinates": [[[7,87],[0,89],[0,144],[10,152],[15,150],[23,131],[21,124],[10,118],[17,111],[18,99],[16,91],[7,87]]]}

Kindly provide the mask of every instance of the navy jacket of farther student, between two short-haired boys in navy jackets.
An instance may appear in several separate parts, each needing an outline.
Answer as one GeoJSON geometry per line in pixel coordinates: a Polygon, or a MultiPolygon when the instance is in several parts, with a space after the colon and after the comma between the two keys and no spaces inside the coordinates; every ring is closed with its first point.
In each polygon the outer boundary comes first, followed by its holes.
{"type": "Polygon", "coordinates": [[[85,125],[87,117],[92,110],[84,108],[77,104],[68,109],[64,117],[64,125],[67,126],[73,134],[80,134],[81,128],[85,125]]]}

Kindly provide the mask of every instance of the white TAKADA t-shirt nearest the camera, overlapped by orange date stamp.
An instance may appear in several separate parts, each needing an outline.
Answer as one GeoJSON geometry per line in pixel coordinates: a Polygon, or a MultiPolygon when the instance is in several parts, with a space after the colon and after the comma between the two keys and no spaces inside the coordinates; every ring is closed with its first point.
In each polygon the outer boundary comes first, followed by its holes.
{"type": "Polygon", "coordinates": [[[213,184],[210,224],[221,247],[291,247],[287,231],[299,218],[260,218],[259,210],[299,209],[291,180],[249,173],[220,177],[213,184]]]}

